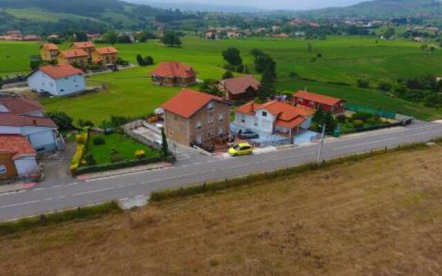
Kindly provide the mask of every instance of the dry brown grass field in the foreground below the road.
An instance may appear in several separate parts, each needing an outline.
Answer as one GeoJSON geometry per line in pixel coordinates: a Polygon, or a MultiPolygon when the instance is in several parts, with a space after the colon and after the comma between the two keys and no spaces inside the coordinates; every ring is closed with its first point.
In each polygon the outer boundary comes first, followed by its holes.
{"type": "Polygon", "coordinates": [[[0,275],[442,275],[442,148],[0,237],[0,275]]]}

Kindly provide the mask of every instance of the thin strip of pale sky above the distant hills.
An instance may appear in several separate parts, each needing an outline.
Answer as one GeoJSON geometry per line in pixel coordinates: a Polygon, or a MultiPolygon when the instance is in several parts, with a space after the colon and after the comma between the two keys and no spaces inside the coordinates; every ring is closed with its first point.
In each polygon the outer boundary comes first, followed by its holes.
{"type": "MultiPolygon", "coordinates": [[[[155,1],[155,0],[151,0],[155,1]]],[[[162,3],[204,3],[224,6],[249,6],[271,10],[307,10],[349,6],[364,0],[162,0],[162,3]]],[[[157,1],[159,2],[159,1],[157,1]]]]}

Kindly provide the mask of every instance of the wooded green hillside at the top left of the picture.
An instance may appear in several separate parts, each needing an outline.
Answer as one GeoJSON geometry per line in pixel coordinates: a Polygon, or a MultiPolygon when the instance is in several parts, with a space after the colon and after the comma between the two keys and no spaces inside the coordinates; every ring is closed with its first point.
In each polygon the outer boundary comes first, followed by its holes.
{"type": "Polygon", "coordinates": [[[155,22],[195,19],[201,18],[119,0],[0,0],[0,33],[12,28],[39,34],[68,30],[104,32],[108,28],[142,30],[154,28],[155,22]]]}

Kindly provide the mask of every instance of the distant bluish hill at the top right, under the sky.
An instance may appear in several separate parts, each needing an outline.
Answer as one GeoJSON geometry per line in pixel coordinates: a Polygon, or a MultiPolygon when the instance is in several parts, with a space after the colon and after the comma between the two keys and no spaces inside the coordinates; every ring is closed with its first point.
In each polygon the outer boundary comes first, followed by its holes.
{"type": "Polygon", "coordinates": [[[325,8],[298,12],[298,15],[312,18],[332,17],[376,17],[391,18],[419,16],[423,14],[442,15],[439,0],[374,0],[345,8],[325,8]]]}

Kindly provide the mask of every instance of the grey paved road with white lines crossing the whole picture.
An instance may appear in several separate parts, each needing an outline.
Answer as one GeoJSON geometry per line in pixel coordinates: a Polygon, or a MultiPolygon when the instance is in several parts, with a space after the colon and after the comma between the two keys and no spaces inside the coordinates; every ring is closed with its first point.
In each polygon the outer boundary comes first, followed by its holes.
{"type": "MultiPolygon", "coordinates": [[[[416,122],[407,128],[374,132],[358,137],[330,139],[323,157],[332,159],[367,150],[410,144],[442,137],[442,124],[416,122]]],[[[63,208],[97,204],[111,199],[135,198],[153,190],[176,188],[202,181],[225,179],[285,168],[316,160],[318,145],[291,148],[237,158],[205,157],[191,163],[184,159],[175,166],[132,175],[37,186],[21,193],[0,195],[0,220],[15,219],[63,208]]]]}

